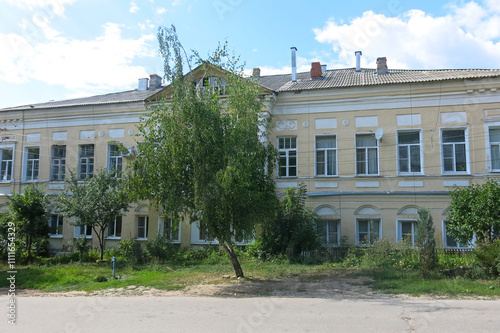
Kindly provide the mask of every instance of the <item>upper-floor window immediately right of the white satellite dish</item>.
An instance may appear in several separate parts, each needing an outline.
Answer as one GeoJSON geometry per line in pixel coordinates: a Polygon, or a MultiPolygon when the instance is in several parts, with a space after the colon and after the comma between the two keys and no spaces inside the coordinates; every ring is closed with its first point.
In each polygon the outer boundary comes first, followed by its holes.
{"type": "Polygon", "coordinates": [[[422,172],[420,131],[398,132],[399,173],[422,172]]]}

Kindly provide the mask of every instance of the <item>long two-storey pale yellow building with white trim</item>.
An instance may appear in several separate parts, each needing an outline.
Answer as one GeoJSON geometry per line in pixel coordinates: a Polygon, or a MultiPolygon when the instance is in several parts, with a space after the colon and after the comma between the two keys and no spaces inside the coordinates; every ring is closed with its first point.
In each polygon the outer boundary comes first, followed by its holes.
{"type": "MultiPolygon", "coordinates": [[[[427,207],[442,246],[466,246],[446,235],[449,191],[500,175],[500,70],[392,70],[385,58],[366,69],[357,52],[356,67],[312,63],[297,73],[295,52],[291,74],[254,69],[252,80],[266,88],[274,126],[268,142],[279,151],[276,186],[306,184],[308,206],[325,222],[322,242],[413,242],[417,208],[427,207]]],[[[152,75],[133,91],[1,109],[0,209],[6,195],[33,182],[60,192],[69,168],[84,178],[122,167],[137,151],[140,116],[162,89],[152,75]]],[[[49,223],[54,250],[81,233],[92,237],[55,211],[49,223]]],[[[154,239],[172,223],[179,223],[168,234],[174,242],[210,243],[196,223],[163,221],[143,203],[117,217],[106,247],[154,239]]]]}

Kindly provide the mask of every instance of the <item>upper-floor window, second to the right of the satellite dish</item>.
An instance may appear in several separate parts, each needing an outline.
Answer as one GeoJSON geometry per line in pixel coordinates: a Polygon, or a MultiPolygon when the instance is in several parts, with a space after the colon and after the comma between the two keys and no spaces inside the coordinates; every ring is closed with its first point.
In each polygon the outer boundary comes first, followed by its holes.
{"type": "Polygon", "coordinates": [[[467,172],[465,129],[443,129],[443,171],[467,172]]]}

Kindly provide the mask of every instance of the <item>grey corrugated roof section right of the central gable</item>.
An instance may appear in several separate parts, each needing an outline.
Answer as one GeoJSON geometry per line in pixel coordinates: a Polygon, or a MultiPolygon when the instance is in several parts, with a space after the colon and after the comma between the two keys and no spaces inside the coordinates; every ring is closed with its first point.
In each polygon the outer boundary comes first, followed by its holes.
{"type": "Polygon", "coordinates": [[[375,69],[355,68],[333,69],[323,73],[321,78],[311,79],[309,72],[297,73],[297,82],[291,81],[291,74],[262,76],[256,82],[275,92],[313,89],[365,87],[383,84],[421,83],[444,80],[479,79],[500,77],[498,69],[436,69],[436,70],[390,70],[378,75],[375,69]]]}

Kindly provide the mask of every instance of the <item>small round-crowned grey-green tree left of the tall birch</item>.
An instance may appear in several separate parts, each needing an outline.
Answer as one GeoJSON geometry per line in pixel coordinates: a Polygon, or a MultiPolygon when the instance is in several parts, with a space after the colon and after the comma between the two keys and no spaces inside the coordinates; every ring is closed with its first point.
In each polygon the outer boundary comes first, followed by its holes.
{"type": "Polygon", "coordinates": [[[126,181],[106,169],[98,170],[84,183],[74,172],[70,174],[68,189],[57,197],[56,206],[64,216],[75,218],[72,225],[92,228],[99,241],[102,260],[106,228],[130,206],[126,181]]]}

